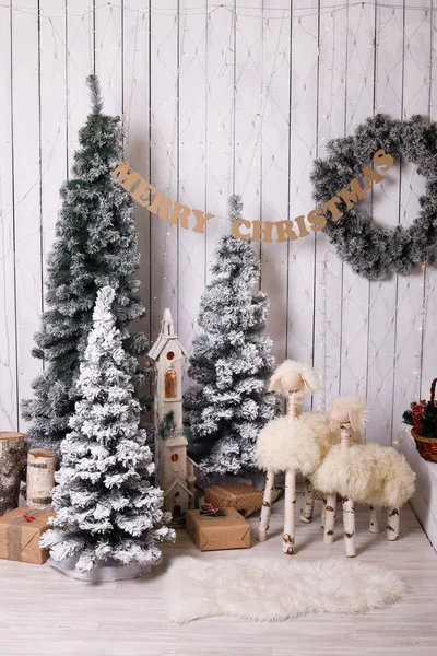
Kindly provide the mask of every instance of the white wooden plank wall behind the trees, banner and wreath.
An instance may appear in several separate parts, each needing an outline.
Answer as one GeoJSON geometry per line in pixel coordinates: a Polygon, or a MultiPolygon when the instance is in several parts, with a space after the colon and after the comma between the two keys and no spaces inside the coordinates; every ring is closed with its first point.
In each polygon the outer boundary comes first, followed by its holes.
{"type": "MultiPolygon", "coordinates": [[[[437,119],[433,0],[5,0],[0,4],[0,430],[25,430],[32,359],[59,187],[88,96],[122,116],[133,168],[174,200],[216,215],[199,235],[134,209],[153,340],[169,306],[191,349],[227,197],[249,220],[314,207],[309,173],[330,138],[367,116],[437,119]]],[[[371,195],[377,220],[409,224],[423,181],[401,163],[371,195]]],[[[397,441],[401,412],[437,375],[437,272],[369,282],[327,237],[256,245],[277,361],[314,362],[338,394],[368,398],[368,438],[397,441]]]]}

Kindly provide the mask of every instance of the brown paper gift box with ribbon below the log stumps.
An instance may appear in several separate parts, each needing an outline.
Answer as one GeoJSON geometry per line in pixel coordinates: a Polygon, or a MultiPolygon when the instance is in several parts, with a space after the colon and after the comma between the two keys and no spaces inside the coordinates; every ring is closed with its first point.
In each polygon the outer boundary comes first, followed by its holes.
{"type": "Polygon", "coordinates": [[[0,558],[42,565],[49,557],[39,539],[50,528],[54,511],[15,508],[0,517],[0,558]]]}

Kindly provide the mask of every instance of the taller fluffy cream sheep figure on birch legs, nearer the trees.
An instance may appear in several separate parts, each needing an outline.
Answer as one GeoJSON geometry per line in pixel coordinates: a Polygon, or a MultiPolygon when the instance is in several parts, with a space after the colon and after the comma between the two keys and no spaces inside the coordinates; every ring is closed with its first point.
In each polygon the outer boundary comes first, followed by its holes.
{"type": "Polygon", "coordinates": [[[270,421],[257,442],[258,466],[267,472],[258,539],[263,542],[267,538],[275,473],[285,471],[283,551],[290,554],[294,553],[295,542],[296,472],[304,476],[312,472],[332,446],[332,433],[323,414],[298,414],[304,396],[314,394],[318,387],[318,376],[310,366],[294,360],[283,362],[274,372],[269,389],[287,393],[287,415],[270,421]]]}

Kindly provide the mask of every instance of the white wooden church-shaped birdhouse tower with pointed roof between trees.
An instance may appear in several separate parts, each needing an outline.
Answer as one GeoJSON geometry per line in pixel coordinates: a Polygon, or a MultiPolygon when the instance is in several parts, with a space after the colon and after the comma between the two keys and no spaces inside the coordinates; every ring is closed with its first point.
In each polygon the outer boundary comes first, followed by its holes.
{"type": "Polygon", "coordinates": [[[182,364],[188,354],[175,335],[168,308],[149,358],[155,363],[156,482],[164,490],[164,509],[176,519],[193,497],[196,465],[187,456],[182,427],[182,364]]]}

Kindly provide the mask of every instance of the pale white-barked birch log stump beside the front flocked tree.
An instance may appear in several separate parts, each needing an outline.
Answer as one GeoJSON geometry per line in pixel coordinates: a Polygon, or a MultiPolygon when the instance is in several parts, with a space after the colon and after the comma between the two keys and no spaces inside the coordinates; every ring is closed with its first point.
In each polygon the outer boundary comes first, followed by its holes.
{"type": "Polygon", "coordinates": [[[27,455],[27,507],[44,511],[51,503],[55,487],[56,453],[33,448],[27,455]]]}

